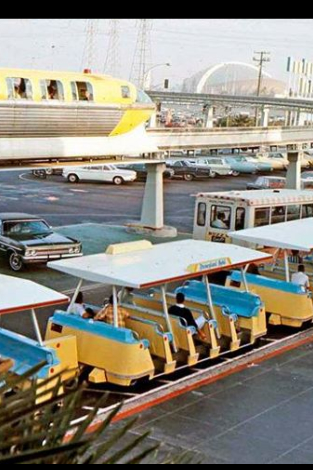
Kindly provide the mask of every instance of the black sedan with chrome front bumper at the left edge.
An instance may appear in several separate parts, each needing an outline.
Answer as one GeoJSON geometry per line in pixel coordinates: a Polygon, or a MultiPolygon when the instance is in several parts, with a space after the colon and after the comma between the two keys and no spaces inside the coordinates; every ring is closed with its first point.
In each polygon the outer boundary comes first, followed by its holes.
{"type": "Polygon", "coordinates": [[[82,245],[53,232],[40,217],[0,213],[0,253],[13,271],[21,271],[25,264],[82,256],[82,245]]]}

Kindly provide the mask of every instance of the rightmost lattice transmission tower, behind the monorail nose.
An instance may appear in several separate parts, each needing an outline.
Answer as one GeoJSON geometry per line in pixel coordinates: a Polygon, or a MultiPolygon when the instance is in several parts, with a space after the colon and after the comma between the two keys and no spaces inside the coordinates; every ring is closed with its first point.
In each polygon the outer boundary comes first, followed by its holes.
{"type": "Polygon", "coordinates": [[[151,67],[151,30],[152,18],[139,18],[137,20],[137,42],[131,71],[131,81],[139,88],[145,87],[149,67],[151,67]]]}

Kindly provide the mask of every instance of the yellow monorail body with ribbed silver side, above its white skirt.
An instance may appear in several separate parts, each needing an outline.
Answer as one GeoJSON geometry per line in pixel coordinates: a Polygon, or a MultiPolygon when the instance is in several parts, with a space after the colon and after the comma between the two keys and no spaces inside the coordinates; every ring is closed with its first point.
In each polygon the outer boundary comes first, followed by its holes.
{"type": "Polygon", "coordinates": [[[0,139],[119,136],[154,110],[146,94],[110,76],[0,69],[0,139]]]}

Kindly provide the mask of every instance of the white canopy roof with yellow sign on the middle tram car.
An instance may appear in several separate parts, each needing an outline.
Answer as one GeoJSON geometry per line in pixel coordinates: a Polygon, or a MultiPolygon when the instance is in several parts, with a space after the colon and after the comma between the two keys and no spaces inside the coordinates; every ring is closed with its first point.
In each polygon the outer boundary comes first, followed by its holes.
{"type": "Polygon", "coordinates": [[[160,245],[146,242],[145,249],[140,249],[140,244],[134,247],[127,253],[64,259],[48,265],[79,279],[139,289],[271,259],[247,248],[196,240],[160,245]]]}

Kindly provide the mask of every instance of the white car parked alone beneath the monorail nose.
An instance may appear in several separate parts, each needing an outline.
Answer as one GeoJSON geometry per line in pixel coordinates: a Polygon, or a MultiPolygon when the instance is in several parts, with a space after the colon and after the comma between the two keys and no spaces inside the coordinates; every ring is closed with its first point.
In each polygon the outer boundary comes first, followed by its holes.
{"type": "Polygon", "coordinates": [[[137,173],[132,170],[123,170],[115,165],[82,166],[81,168],[67,168],[63,171],[64,178],[69,183],[80,181],[99,181],[113,183],[120,186],[123,183],[132,183],[137,178],[137,173]]]}

